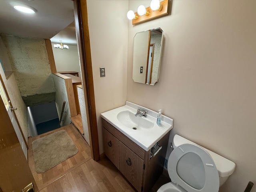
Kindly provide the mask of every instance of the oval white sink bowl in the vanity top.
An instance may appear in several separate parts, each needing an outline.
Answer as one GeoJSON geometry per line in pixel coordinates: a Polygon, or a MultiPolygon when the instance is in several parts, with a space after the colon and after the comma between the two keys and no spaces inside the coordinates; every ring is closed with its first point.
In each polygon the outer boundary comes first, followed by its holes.
{"type": "Polygon", "coordinates": [[[154,122],[149,116],[146,118],[135,116],[130,110],[124,110],[117,114],[118,121],[133,130],[148,130],[153,128],[154,122]]]}

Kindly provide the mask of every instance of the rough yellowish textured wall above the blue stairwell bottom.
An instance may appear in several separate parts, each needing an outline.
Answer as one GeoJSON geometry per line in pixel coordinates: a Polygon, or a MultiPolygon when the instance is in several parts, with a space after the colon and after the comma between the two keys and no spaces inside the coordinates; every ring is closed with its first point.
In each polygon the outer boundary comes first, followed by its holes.
{"type": "Polygon", "coordinates": [[[21,96],[55,92],[44,39],[2,34],[21,96]]]}

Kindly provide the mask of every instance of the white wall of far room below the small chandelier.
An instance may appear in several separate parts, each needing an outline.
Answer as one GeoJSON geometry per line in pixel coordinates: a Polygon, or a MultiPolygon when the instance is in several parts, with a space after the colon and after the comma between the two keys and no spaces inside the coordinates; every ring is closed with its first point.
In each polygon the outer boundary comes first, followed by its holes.
{"type": "Polygon", "coordinates": [[[52,43],[52,52],[57,72],[77,71],[81,77],[77,46],[68,45],[68,50],[62,50],[55,48],[53,45],[54,44],[52,43]]]}

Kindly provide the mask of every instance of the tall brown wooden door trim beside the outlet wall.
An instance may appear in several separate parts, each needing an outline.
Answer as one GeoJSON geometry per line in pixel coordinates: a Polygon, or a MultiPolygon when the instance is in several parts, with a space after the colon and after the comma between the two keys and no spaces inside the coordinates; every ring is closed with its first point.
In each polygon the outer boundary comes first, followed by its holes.
{"type": "Polygon", "coordinates": [[[88,106],[86,107],[86,113],[88,119],[91,154],[93,160],[98,161],[100,160],[100,152],[86,0],[74,0],[74,16],[78,38],[78,50],[80,55],[84,98],[86,106],[88,106]]]}

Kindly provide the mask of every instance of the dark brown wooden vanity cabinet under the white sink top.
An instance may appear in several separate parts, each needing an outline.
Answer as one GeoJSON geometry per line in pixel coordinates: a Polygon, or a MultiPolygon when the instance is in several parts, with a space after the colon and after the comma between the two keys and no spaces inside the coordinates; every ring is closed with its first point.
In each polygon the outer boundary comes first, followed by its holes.
{"type": "Polygon", "coordinates": [[[159,141],[162,150],[150,159],[150,150],[142,149],[104,119],[102,126],[105,155],[138,192],[149,192],[163,172],[170,132],[159,141]]]}

